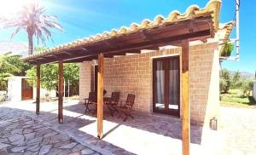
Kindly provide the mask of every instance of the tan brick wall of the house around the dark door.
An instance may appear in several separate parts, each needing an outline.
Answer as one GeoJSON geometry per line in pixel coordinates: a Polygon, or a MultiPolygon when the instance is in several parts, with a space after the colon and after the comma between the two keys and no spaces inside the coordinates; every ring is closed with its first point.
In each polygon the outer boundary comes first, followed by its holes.
{"type": "MultiPolygon", "coordinates": [[[[125,100],[127,94],[135,94],[134,109],[151,113],[152,60],[159,56],[180,55],[181,66],[181,51],[181,48],[162,49],[140,55],[105,58],[104,88],[108,90],[107,95],[119,91],[121,100],[125,100]]],[[[203,43],[189,47],[189,100],[192,123],[208,123],[209,118],[218,117],[218,66],[218,43],[203,43]]],[[[80,64],[80,100],[93,90],[92,72],[91,62],[80,64]]]]}

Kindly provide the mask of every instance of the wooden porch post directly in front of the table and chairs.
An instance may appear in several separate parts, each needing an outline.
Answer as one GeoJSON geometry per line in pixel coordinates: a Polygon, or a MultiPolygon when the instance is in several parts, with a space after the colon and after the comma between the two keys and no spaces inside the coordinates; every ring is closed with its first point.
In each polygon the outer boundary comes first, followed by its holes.
{"type": "Polygon", "coordinates": [[[103,88],[104,88],[104,55],[98,55],[98,81],[97,81],[97,136],[102,138],[103,129],[103,88]]]}

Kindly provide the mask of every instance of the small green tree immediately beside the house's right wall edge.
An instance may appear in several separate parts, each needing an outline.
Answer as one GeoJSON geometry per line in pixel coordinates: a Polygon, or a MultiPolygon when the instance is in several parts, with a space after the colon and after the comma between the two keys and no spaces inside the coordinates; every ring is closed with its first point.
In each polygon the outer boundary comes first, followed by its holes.
{"type": "Polygon", "coordinates": [[[228,93],[230,90],[230,72],[226,69],[223,69],[220,71],[220,83],[219,83],[219,88],[220,92],[223,93],[228,93]]]}

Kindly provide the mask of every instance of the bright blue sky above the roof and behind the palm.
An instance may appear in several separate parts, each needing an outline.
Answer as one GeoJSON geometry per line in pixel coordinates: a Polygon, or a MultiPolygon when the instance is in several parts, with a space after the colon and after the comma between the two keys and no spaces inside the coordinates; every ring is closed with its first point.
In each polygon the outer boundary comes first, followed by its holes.
{"type": "MultiPolygon", "coordinates": [[[[54,31],[54,43],[49,41],[46,46],[53,47],[120,26],[130,26],[131,22],[140,23],[145,18],[153,20],[157,14],[167,16],[174,9],[183,13],[191,4],[204,7],[207,2],[207,0],[43,0],[42,5],[47,9],[47,13],[57,15],[64,27],[64,32],[54,31]]],[[[224,68],[243,72],[256,71],[256,50],[253,47],[253,40],[256,38],[255,14],[256,1],[241,0],[240,61],[224,61],[224,68]]],[[[233,20],[234,15],[235,0],[223,0],[220,22],[233,20]]],[[[0,40],[9,40],[10,33],[11,30],[0,29],[0,40]]],[[[231,37],[236,37],[235,29],[231,37]]],[[[26,33],[21,32],[13,40],[26,42],[26,33]]]]}

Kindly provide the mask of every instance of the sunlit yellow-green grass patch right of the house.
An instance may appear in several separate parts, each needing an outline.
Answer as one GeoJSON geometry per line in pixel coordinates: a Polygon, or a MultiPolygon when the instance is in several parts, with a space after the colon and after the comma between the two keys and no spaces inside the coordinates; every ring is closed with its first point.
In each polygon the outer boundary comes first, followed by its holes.
{"type": "Polygon", "coordinates": [[[222,94],[220,96],[221,106],[235,106],[256,109],[256,101],[253,99],[253,96],[243,96],[241,94],[241,90],[239,89],[230,89],[228,94],[222,94]]]}

